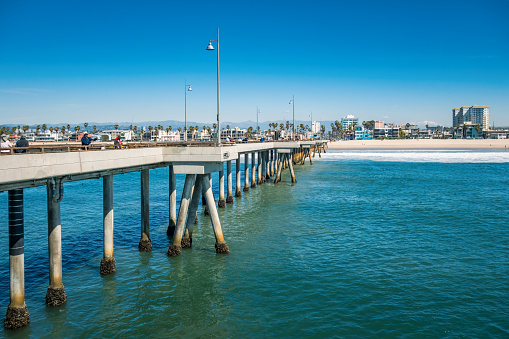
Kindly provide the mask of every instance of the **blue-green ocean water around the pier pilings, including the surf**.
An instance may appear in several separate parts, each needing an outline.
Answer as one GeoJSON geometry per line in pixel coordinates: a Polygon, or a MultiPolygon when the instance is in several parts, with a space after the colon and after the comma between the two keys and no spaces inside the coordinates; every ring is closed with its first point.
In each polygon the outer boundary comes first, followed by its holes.
{"type": "MultiPolygon", "coordinates": [[[[200,208],[193,248],[166,256],[165,168],[150,171],[153,251],[138,252],[140,175],[115,176],[109,276],[99,274],[102,180],[66,183],[60,307],[44,299],[45,187],[26,189],[31,323],[0,336],[509,337],[509,152],[331,150],[314,160],[295,166],[297,184],[285,171],[219,209],[228,255],[215,253],[200,208]]],[[[0,206],[6,310],[7,192],[0,206]]]]}

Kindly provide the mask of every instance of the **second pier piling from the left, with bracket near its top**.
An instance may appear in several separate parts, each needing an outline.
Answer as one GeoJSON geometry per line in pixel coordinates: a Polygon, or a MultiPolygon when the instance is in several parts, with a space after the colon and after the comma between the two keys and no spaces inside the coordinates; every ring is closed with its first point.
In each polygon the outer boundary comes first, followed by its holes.
{"type": "Polygon", "coordinates": [[[48,254],[49,286],[46,292],[46,304],[58,306],[67,301],[62,284],[62,226],[60,223],[60,201],[63,197],[62,180],[48,180],[48,254]]]}

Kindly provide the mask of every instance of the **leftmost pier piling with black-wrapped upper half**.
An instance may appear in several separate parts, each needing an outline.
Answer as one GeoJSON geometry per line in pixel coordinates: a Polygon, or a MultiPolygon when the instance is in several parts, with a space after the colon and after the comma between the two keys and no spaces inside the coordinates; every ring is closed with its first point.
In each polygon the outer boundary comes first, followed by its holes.
{"type": "Polygon", "coordinates": [[[25,231],[23,189],[9,191],[9,277],[11,302],[5,315],[5,328],[15,329],[30,323],[25,305],[25,231]]]}

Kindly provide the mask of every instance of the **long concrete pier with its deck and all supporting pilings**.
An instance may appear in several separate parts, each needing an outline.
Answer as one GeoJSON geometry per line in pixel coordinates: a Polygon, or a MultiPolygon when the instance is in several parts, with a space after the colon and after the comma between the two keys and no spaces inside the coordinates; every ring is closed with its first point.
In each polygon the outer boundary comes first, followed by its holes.
{"type": "MultiPolygon", "coordinates": [[[[0,156],[0,192],[8,191],[9,211],[9,269],[10,304],[4,325],[19,328],[30,322],[25,305],[24,289],[24,220],[23,211],[29,203],[23,200],[23,189],[46,186],[48,223],[49,286],[46,293],[48,306],[59,306],[66,302],[67,295],[62,276],[62,236],[65,225],[61,225],[60,202],[65,199],[66,182],[87,179],[103,179],[103,259],[100,274],[115,272],[114,258],[114,210],[113,180],[115,175],[139,172],[140,185],[140,251],[151,251],[149,224],[149,171],[168,167],[169,226],[167,235],[172,238],[167,250],[169,257],[178,256],[183,248],[192,246],[194,223],[200,197],[204,197],[215,236],[218,254],[229,253],[222,232],[217,208],[234,203],[241,196],[241,162],[244,160],[244,192],[256,189],[269,179],[277,184],[283,180],[285,169],[289,176],[285,180],[296,183],[294,165],[303,165],[306,159],[327,149],[326,141],[287,141],[245,144],[128,144],[124,149],[107,147],[32,146],[27,153],[0,156]],[[236,188],[233,195],[232,161],[236,162],[236,188]],[[226,180],[225,180],[226,165],[226,180]],[[251,173],[249,172],[251,170],[251,173]],[[215,174],[217,173],[217,174],[215,174]],[[176,174],[185,175],[177,213],[176,174]],[[212,180],[219,182],[217,199],[212,192],[212,180]],[[226,199],[225,199],[226,181],[226,199]],[[63,226],[63,227],[62,227],[63,226]]],[[[121,264],[121,263],[120,263],[121,264]]]]}

